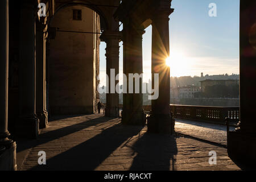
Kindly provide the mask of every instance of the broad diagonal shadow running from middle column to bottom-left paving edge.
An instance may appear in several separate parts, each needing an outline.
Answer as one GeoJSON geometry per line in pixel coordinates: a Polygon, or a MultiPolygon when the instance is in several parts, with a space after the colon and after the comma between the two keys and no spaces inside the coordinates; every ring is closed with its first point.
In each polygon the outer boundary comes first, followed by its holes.
{"type": "Polygon", "coordinates": [[[119,123],[84,143],[48,159],[47,165],[36,166],[31,170],[94,170],[123,142],[141,130],[142,127],[127,127],[119,123]]]}

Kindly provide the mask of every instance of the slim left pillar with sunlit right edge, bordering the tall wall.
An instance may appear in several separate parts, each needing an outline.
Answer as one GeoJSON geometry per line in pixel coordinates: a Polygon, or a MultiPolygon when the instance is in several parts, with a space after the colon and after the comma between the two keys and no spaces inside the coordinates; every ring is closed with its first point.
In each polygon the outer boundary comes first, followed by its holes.
{"type": "Polygon", "coordinates": [[[46,110],[46,40],[43,25],[36,24],[36,114],[40,129],[48,125],[46,110]]]}

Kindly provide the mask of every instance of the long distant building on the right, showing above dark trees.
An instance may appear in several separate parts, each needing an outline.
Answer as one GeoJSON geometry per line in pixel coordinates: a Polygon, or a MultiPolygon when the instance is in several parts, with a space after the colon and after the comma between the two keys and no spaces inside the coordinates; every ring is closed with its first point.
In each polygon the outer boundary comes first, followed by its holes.
{"type": "Polygon", "coordinates": [[[201,82],[201,91],[205,92],[205,87],[207,86],[213,86],[213,85],[237,85],[239,84],[239,80],[203,80],[201,82]]]}

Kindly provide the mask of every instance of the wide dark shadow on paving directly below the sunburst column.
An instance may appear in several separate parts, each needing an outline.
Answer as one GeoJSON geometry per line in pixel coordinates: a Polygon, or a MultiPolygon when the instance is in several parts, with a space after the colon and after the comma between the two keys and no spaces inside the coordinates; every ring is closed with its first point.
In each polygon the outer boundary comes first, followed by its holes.
{"type": "Polygon", "coordinates": [[[131,171],[175,170],[177,144],[173,136],[145,133],[133,148],[137,156],[133,160],[131,171]]]}

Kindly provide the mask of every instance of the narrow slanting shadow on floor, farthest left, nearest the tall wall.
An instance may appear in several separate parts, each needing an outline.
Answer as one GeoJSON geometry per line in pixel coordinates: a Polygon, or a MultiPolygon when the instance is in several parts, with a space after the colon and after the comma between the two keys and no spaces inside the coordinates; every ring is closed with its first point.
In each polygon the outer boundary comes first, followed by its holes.
{"type": "MultiPolygon", "coordinates": [[[[61,118],[63,118],[63,117],[61,117],[61,118]]],[[[68,118],[68,117],[66,117],[66,118],[68,118]]],[[[71,117],[69,117],[69,118],[71,118],[71,117]]],[[[47,143],[51,140],[55,140],[55,139],[64,137],[66,135],[76,133],[77,131],[81,131],[90,126],[95,126],[100,123],[108,122],[111,119],[113,119],[113,118],[99,117],[99,118],[94,118],[94,119],[88,119],[84,122],[76,123],[75,125],[62,127],[57,130],[52,130],[52,131],[48,131],[47,133],[40,134],[39,139],[36,139],[36,140],[16,139],[16,143],[17,143],[16,151],[21,152],[23,150],[27,150],[28,148],[38,146],[39,144],[47,143]]]]}

